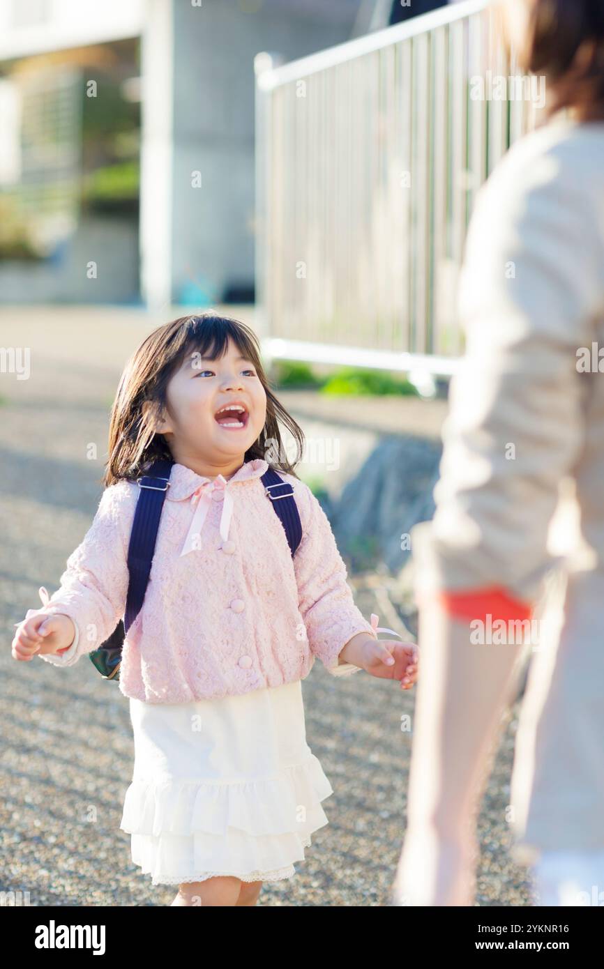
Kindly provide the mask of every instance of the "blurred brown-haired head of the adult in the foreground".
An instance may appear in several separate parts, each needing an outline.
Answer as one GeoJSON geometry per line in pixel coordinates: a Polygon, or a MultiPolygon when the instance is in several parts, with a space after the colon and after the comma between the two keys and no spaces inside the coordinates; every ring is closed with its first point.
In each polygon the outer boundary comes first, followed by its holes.
{"type": "Polygon", "coordinates": [[[525,0],[528,26],[521,68],[551,88],[546,113],[593,109],[604,115],[603,0],[525,0]]]}

